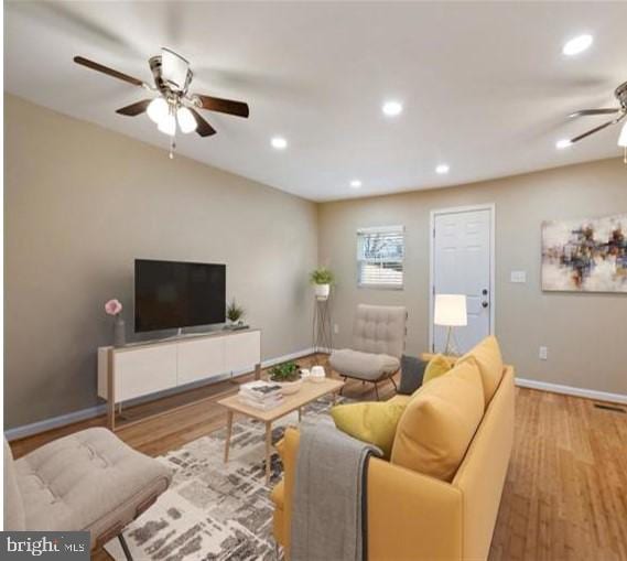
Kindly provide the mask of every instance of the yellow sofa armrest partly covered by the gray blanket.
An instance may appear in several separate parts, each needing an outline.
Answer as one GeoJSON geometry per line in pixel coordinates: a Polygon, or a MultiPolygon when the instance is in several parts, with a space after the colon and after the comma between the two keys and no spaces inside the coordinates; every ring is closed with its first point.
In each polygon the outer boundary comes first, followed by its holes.
{"type": "MultiPolygon", "coordinates": [[[[300,433],[281,443],[284,468],[282,536],[288,559],[300,433]]],[[[448,483],[371,458],[368,465],[368,558],[437,561],[462,558],[462,493],[448,483]]]]}

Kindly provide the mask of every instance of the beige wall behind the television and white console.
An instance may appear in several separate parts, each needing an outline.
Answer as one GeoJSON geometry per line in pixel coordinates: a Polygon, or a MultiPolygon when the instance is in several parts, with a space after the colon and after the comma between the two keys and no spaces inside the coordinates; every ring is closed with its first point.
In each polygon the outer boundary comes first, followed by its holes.
{"type": "Polygon", "coordinates": [[[136,257],[227,263],[263,357],[311,346],[316,205],[13,96],[4,119],[7,429],[97,403],[136,257]]]}

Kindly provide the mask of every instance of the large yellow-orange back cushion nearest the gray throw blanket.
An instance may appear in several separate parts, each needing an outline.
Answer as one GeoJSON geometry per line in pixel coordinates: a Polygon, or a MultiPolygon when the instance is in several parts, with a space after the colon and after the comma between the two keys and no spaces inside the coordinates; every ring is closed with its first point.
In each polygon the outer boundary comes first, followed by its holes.
{"type": "Polygon", "coordinates": [[[412,397],[398,424],[391,462],[451,482],[483,414],[477,366],[455,366],[412,397]]]}

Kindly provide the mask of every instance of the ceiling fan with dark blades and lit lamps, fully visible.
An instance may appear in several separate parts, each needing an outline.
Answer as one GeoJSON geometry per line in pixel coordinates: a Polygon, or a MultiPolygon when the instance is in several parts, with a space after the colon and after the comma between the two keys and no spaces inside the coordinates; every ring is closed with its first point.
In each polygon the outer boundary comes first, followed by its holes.
{"type": "Polygon", "coordinates": [[[191,94],[188,89],[194,73],[190,68],[190,63],[170,48],[163,47],[160,55],[152,56],[148,61],[154,86],[83,56],[75,56],[74,62],[158,94],[158,97],[142,99],[121,107],[116,112],[128,117],[137,117],[147,112],[148,117],[156,123],[156,128],[170,137],[170,158],[173,158],[176,148],[177,128],[183,133],[196,131],[201,137],[210,137],[216,133],[216,130],[196,109],[245,118],[249,115],[248,105],[242,101],[191,94]]]}

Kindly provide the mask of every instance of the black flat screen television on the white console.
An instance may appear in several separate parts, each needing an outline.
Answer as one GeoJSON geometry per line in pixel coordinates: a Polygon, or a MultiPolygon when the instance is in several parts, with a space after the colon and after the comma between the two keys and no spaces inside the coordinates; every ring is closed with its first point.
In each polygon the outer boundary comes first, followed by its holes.
{"type": "Polygon", "coordinates": [[[136,259],[136,332],[224,323],[225,314],[225,265],[136,259]]]}

